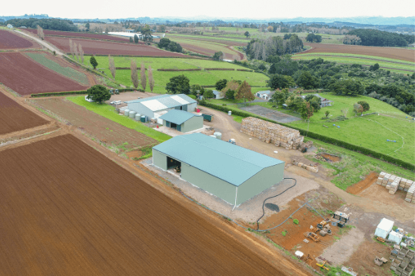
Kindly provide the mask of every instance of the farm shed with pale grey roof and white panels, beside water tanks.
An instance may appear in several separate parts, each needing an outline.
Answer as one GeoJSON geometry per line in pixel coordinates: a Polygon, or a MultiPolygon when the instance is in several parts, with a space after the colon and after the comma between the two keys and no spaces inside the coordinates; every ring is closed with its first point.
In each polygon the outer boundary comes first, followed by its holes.
{"type": "MultiPolygon", "coordinates": [[[[197,106],[197,102],[194,99],[184,94],[165,94],[145,99],[126,101],[125,103],[127,103],[130,111],[135,111],[137,114],[145,115],[151,119],[158,119],[162,115],[165,115],[169,110],[175,109],[194,112],[197,106]]],[[[163,124],[163,121],[159,120],[158,123],[163,124]]]]}

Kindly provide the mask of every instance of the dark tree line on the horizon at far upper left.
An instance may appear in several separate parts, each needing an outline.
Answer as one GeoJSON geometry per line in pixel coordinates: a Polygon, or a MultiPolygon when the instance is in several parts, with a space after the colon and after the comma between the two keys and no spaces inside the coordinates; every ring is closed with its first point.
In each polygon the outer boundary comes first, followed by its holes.
{"type": "Polygon", "coordinates": [[[77,32],[78,28],[73,24],[71,20],[66,19],[10,19],[6,21],[6,24],[12,24],[12,26],[20,27],[26,26],[27,28],[37,28],[41,26],[45,30],[62,30],[68,32],[77,32]]]}

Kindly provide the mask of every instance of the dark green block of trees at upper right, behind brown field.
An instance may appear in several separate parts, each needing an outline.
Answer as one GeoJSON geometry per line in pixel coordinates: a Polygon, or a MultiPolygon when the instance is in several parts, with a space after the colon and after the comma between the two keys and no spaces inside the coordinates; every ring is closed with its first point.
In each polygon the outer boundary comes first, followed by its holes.
{"type": "MultiPolygon", "coordinates": [[[[360,38],[360,45],[382,46],[382,47],[406,47],[415,42],[415,37],[409,34],[396,34],[381,30],[356,29],[351,30],[348,35],[356,35],[360,38]]],[[[343,42],[347,44],[346,42],[343,42]]]]}

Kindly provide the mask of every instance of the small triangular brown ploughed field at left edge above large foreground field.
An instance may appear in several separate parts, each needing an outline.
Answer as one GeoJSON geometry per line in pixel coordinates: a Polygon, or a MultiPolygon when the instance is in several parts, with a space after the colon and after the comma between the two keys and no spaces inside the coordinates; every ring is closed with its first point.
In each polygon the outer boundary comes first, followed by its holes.
{"type": "Polygon", "coordinates": [[[47,123],[45,119],[0,92],[0,135],[47,123]]]}

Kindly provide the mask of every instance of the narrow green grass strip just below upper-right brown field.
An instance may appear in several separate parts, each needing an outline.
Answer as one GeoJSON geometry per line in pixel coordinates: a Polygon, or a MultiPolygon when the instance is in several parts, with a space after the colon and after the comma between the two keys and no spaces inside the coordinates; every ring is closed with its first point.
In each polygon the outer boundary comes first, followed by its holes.
{"type": "MultiPolygon", "coordinates": [[[[321,56],[319,55],[295,55],[293,56],[293,59],[304,59],[304,60],[310,60],[310,59],[317,59],[321,56]]],[[[392,63],[388,61],[381,61],[381,60],[371,60],[371,59],[360,59],[358,57],[322,57],[324,61],[335,61],[338,63],[346,63],[346,64],[361,64],[361,65],[374,65],[375,63],[379,63],[380,68],[391,68],[396,69],[402,72],[403,74],[412,74],[415,72],[414,65],[409,64],[400,64],[400,63],[392,63]]]]}

